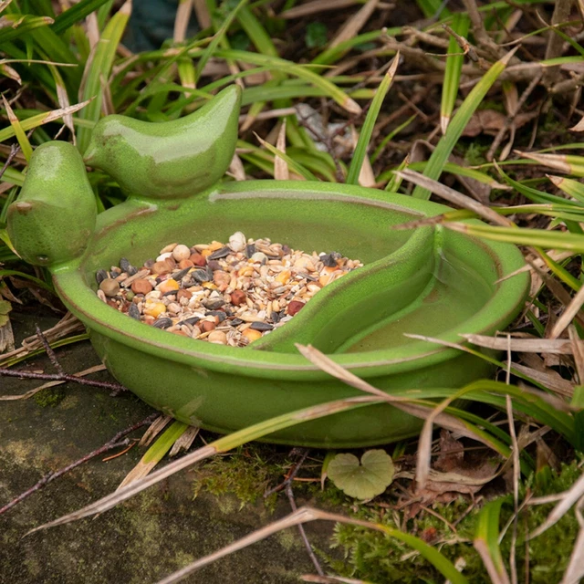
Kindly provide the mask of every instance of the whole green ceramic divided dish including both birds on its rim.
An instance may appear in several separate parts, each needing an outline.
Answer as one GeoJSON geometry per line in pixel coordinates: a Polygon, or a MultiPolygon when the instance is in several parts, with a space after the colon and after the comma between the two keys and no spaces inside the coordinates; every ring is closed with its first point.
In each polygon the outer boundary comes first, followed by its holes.
{"type": "MultiPolygon", "coordinates": [[[[505,328],[527,294],[527,274],[501,280],[524,265],[516,247],[440,226],[392,230],[447,210],[401,194],[335,183],[219,183],[235,151],[239,100],[230,87],[181,120],[109,116],[97,124],[84,159],[60,141],[33,155],[9,208],[9,235],[26,261],[50,269],[57,294],[89,329],[112,375],[178,420],[230,433],[359,394],[319,370],[296,343],[313,345],[389,393],[457,388],[492,374],[485,360],[403,333],[460,342],[461,333],[505,328]],[[97,214],[85,164],[108,172],[127,201],[97,214]],[[148,326],[96,295],[96,272],[120,257],[141,266],[170,242],[226,242],[235,232],[308,253],[339,251],[363,266],[243,348],[148,326]]],[[[268,439],[366,446],[411,436],[421,424],[376,404],[268,439]]]]}

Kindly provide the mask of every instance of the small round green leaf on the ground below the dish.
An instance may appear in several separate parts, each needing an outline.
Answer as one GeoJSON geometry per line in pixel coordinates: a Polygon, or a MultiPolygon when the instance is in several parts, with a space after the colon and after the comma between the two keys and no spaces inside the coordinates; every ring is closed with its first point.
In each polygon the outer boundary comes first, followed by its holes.
{"type": "Polygon", "coordinates": [[[384,450],[368,450],[359,458],[337,454],[328,463],[328,478],[349,496],[370,499],[391,485],[394,474],[391,456],[384,450]]]}

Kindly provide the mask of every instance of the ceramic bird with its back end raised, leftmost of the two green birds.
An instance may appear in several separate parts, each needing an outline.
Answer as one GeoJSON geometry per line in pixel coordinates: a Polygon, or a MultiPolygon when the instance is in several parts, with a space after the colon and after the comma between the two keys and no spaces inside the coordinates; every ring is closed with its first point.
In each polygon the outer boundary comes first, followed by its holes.
{"type": "Polygon", "coordinates": [[[26,262],[56,266],[83,253],[97,214],[78,149],[49,141],[33,152],[18,200],[8,207],[8,235],[26,262]]]}

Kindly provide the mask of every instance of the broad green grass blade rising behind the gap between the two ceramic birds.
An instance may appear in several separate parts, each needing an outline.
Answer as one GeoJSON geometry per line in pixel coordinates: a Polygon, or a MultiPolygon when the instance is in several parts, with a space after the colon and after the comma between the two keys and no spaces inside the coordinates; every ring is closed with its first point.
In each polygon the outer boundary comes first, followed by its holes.
{"type": "MultiPolygon", "coordinates": [[[[98,121],[101,115],[101,103],[103,92],[101,89],[101,79],[107,80],[110,77],[111,66],[116,56],[116,48],[120,44],[121,36],[124,33],[128,19],[130,18],[131,2],[127,1],[120,10],[111,17],[110,22],[105,27],[98,45],[95,49],[93,59],[88,61],[89,70],[86,70],[86,83],[83,90],[83,99],[93,99],[89,106],[79,114],[83,120],[98,121]]],[[[91,137],[91,130],[87,128],[78,129],[78,149],[85,152],[91,137]]]]}

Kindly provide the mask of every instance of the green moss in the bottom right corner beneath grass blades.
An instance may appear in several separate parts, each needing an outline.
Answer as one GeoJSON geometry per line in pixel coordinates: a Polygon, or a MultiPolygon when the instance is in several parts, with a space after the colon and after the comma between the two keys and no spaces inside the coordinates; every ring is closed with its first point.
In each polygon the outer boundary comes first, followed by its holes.
{"type": "MultiPolygon", "coordinates": [[[[554,474],[545,492],[537,495],[558,493],[566,490],[578,479],[580,474],[576,463],[565,465],[561,473],[554,474]]],[[[525,491],[525,485],[523,490],[525,491]]],[[[433,509],[446,521],[455,522],[469,506],[462,497],[450,505],[437,505],[433,509]]],[[[526,562],[526,535],[541,525],[553,505],[528,506],[519,516],[518,537],[516,545],[516,562],[519,581],[524,581],[526,562]]],[[[456,526],[454,534],[444,521],[430,514],[421,513],[415,519],[406,522],[408,533],[422,537],[438,546],[445,558],[455,563],[464,559],[464,575],[474,584],[488,584],[491,580],[473,547],[476,519],[480,509],[474,509],[456,526]]],[[[388,513],[386,507],[362,506],[357,512],[350,513],[369,521],[380,522],[390,527],[399,527],[401,514],[388,513]]],[[[513,501],[505,497],[501,513],[500,526],[513,516],[513,501]]],[[[550,527],[543,535],[528,543],[530,582],[547,584],[558,582],[568,566],[569,556],[579,531],[578,521],[570,511],[558,523],[550,527]]],[[[511,530],[507,530],[501,544],[503,558],[509,558],[511,530]]],[[[411,554],[412,549],[391,537],[384,536],[364,527],[338,525],[333,537],[333,546],[339,547],[345,558],[329,559],[331,568],[347,577],[371,580],[375,582],[400,582],[400,584],[418,582],[441,582],[440,574],[419,555],[411,554]],[[407,560],[404,561],[404,555],[407,560]]],[[[507,567],[508,568],[508,567],[507,567]]]]}

